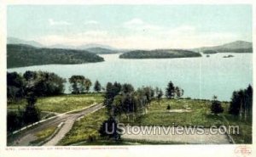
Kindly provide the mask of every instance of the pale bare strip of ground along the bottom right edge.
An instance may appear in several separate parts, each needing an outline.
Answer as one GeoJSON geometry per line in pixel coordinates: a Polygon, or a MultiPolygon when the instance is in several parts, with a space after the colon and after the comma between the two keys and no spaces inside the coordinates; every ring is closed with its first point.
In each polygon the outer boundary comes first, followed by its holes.
{"type": "MultiPolygon", "coordinates": [[[[202,129],[203,133],[182,133],[177,134],[177,127],[171,127],[173,131],[166,132],[167,127],[160,127],[160,131],[156,132],[143,132],[143,129],[148,129],[150,126],[139,126],[140,131],[137,131],[137,126],[129,126],[130,132],[127,132],[128,126],[125,126],[125,133],[122,135],[123,139],[134,141],[148,141],[159,143],[190,143],[190,144],[229,144],[230,140],[225,133],[211,134],[208,128],[202,129]],[[133,127],[133,128],[132,128],[133,127]],[[133,132],[132,134],[129,134],[133,132]],[[160,132],[160,133],[159,133],[160,132]]],[[[216,130],[215,130],[216,131],[216,130]]],[[[199,130],[195,129],[195,132],[199,130]]]]}

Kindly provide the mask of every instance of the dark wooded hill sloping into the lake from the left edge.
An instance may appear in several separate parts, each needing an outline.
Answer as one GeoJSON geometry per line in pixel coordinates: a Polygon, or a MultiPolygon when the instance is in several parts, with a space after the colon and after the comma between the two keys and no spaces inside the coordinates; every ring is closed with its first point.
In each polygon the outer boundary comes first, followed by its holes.
{"type": "Polygon", "coordinates": [[[85,50],[35,48],[30,45],[7,45],[7,68],[40,64],[84,64],[104,59],[85,50]]]}

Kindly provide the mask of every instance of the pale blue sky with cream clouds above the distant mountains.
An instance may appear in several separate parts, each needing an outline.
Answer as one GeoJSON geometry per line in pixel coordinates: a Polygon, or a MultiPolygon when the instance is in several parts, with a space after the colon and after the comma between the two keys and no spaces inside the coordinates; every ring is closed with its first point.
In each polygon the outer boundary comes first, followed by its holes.
{"type": "Polygon", "coordinates": [[[252,6],[9,5],[7,34],[46,46],[154,49],[252,42],[252,6]]]}

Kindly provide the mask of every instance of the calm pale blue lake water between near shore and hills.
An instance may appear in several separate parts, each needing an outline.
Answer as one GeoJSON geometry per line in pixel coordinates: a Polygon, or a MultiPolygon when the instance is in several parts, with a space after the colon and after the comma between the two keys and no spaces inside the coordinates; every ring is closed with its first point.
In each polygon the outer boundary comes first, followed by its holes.
{"type": "MultiPolygon", "coordinates": [[[[69,78],[83,75],[94,83],[108,81],[131,83],[134,87],[152,86],[166,89],[168,81],[184,89],[183,97],[230,100],[234,90],[253,82],[253,54],[232,53],[234,58],[223,58],[230,53],[212,54],[207,58],[187,59],[119,59],[119,54],[105,54],[105,62],[93,64],[50,64],[9,69],[24,73],[43,70],[69,78]]],[[[91,87],[92,88],[92,87],[91,87]]],[[[68,84],[66,93],[69,93],[68,84]]]]}

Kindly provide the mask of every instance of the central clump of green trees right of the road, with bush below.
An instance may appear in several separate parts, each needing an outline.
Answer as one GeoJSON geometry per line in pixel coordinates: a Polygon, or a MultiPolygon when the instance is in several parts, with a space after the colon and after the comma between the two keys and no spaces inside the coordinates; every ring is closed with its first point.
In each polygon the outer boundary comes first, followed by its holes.
{"type": "MultiPolygon", "coordinates": [[[[166,87],[166,98],[180,98],[183,89],[175,87],[170,81],[166,87]]],[[[99,129],[102,137],[120,140],[117,124],[119,117],[125,115],[127,121],[130,117],[133,121],[137,116],[147,113],[150,102],[155,98],[160,103],[163,92],[159,87],[139,87],[137,90],[131,84],[120,84],[119,82],[108,82],[106,87],[104,105],[108,109],[108,120],[103,121],[99,129]],[[112,132],[109,134],[108,132],[112,132]]]]}

